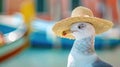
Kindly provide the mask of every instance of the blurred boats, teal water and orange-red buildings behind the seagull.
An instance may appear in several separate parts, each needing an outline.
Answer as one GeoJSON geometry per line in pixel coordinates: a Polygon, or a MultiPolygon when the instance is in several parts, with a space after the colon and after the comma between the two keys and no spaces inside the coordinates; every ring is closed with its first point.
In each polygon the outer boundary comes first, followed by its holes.
{"type": "Polygon", "coordinates": [[[120,0],[0,0],[0,67],[66,67],[74,40],[56,37],[51,28],[77,6],[114,23],[96,36],[95,49],[120,67],[120,0]]]}

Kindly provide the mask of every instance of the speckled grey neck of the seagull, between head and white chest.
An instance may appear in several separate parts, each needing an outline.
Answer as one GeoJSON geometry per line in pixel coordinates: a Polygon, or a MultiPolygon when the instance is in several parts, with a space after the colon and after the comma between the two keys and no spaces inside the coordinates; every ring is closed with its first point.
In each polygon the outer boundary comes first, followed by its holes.
{"type": "Polygon", "coordinates": [[[78,53],[81,55],[95,54],[94,36],[75,40],[71,53],[78,53]]]}

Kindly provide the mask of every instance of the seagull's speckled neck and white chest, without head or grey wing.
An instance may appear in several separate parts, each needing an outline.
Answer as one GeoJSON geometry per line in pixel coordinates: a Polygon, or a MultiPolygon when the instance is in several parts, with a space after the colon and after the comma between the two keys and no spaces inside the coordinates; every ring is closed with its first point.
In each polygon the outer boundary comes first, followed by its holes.
{"type": "Polygon", "coordinates": [[[67,67],[92,67],[96,59],[94,36],[77,39],[68,56],[67,67]]]}

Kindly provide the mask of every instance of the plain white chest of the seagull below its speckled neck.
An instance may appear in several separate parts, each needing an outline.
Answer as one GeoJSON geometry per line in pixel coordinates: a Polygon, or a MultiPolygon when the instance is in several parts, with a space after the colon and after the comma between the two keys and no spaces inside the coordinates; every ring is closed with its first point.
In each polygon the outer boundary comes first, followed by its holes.
{"type": "Polygon", "coordinates": [[[68,57],[68,67],[92,67],[96,57],[94,55],[72,55],[68,57]]]}

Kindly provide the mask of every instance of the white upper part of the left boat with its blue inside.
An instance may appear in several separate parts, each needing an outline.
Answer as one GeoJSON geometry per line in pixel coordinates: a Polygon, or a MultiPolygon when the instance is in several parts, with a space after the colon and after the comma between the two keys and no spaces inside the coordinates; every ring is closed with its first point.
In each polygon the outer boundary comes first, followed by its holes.
{"type": "Polygon", "coordinates": [[[5,44],[18,40],[26,32],[26,26],[20,14],[14,16],[1,15],[0,26],[0,32],[3,34],[5,44]]]}

